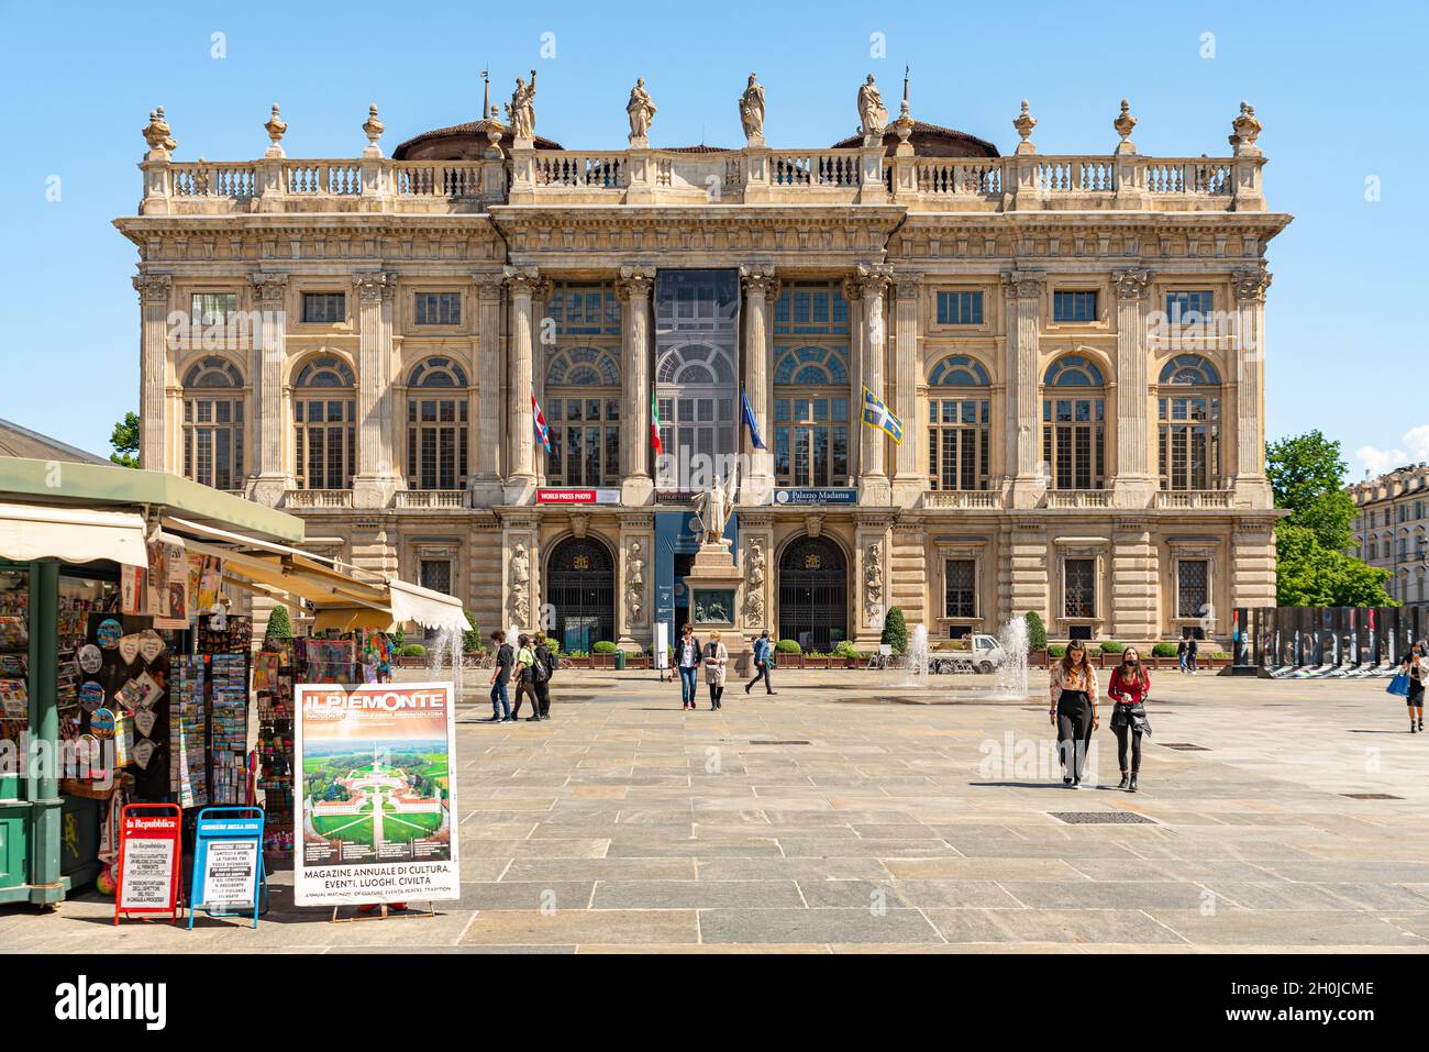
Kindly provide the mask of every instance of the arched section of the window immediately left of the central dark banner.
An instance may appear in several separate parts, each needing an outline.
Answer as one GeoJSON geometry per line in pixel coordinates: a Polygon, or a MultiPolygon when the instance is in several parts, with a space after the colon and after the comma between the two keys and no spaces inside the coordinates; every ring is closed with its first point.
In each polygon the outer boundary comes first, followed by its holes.
{"type": "Polygon", "coordinates": [[[543,410],[550,427],[550,482],[620,482],[620,366],[614,350],[570,347],[553,353],[546,363],[543,410]]]}

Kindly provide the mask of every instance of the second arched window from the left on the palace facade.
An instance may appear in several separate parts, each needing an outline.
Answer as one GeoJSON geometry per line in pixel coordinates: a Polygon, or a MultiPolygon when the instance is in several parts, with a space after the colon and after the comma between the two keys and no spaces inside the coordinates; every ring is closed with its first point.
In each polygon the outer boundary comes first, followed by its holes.
{"type": "Polygon", "coordinates": [[[346,362],[319,357],[293,384],[300,489],[349,489],[357,472],[357,377],[346,362]]]}

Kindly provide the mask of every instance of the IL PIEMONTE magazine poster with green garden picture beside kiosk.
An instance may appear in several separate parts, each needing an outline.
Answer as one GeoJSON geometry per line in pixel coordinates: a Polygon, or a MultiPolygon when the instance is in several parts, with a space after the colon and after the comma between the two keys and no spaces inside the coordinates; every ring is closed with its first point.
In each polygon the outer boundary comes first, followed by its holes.
{"type": "Polygon", "coordinates": [[[460,898],[452,693],[297,686],[299,905],[460,898]]]}

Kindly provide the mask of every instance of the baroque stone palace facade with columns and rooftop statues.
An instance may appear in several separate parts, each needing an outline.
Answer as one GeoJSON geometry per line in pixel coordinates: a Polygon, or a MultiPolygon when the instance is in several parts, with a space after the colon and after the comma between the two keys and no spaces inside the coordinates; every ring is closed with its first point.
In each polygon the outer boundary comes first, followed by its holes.
{"type": "MultiPolygon", "coordinates": [[[[462,597],[483,629],[647,646],[689,616],[702,465],[739,455],[729,622],[806,649],[1036,610],[1053,637],[1225,636],[1275,602],[1268,242],[1242,103],[1223,157],[1009,156],[889,120],[829,149],[534,134],[179,162],[144,129],[141,459],[307,520],[309,546],[462,597]],[[187,327],[186,327],[187,326],[187,327]],[[863,392],[903,437],[863,423],[863,392]],[[766,449],[742,422],[747,396],[766,449]],[[539,429],[543,415],[550,447],[539,429]],[[652,426],[663,456],[653,449],[652,426]]],[[[852,107],[850,107],[852,109],[852,107]]]]}

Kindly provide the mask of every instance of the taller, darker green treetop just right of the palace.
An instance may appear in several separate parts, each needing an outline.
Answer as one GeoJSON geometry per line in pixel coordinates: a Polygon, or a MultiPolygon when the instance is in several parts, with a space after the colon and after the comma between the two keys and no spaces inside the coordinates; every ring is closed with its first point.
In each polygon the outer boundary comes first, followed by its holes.
{"type": "Polygon", "coordinates": [[[1283,522],[1313,530],[1325,547],[1349,552],[1356,509],[1345,492],[1340,443],[1318,430],[1292,435],[1266,446],[1265,459],[1275,506],[1289,512],[1283,522]]]}

